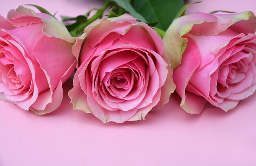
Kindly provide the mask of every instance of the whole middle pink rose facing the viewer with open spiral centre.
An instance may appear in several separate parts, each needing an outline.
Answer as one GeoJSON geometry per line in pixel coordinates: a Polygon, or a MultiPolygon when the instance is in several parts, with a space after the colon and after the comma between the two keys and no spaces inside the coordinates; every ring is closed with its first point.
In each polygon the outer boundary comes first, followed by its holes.
{"type": "Polygon", "coordinates": [[[169,101],[175,85],[155,30],[124,14],[103,18],[84,33],[74,45],[78,70],[69,92],[74,109],[122,123],[144,119],[169,101]]]}

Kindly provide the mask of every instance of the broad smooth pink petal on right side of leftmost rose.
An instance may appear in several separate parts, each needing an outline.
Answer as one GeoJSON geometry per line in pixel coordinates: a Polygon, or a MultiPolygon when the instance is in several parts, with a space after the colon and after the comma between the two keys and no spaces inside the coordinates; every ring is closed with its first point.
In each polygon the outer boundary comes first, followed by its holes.
{"type": "Polygon", "coordinates": [[[42,36],[34,48],[34,57],[40,63],[40,67],[45,70],[47,76],[49,76],[52,90],[57,87],[62,75],[75,61],[75,57],[71,52],[72,46],[71,43],[65,40],[42,36]]]}

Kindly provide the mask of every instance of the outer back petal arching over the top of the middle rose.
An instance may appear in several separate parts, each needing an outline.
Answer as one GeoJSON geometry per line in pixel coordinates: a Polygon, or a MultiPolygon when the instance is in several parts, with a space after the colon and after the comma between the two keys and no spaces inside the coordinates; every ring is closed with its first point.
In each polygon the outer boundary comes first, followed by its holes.
{"type": "MultiPolygon", "coordinates": [[[[91,47],[95,47],[95,45],[97,43],[101,42],[101,40],[103,40],[111,32],[117,32],[118,34],[126,34],[126,32],[130,30],[130,28],[137,27],[137,26],[143,28],[144,31],[146,31],[149,34],[149,36],[152,38],[152,40],[151,40],[152,43],[155,43],[155,45],[154,45],[155,50],[153,50],[153,51],[162,55],[162,53],[164,52],[164,45],[159,45],[159,43],[162,42],[161,37],[159,35],[157,35],[157,33],[155,31],[152,31],[152,29],[150,29],[150,27],[148,27],[146,24],[137,22],[136,19],[133,18],[132,16],[130,16],[129,14],[124,14],[122,16],[115,17],[115,18],[108,18],[108,19],[103,18],[101,20],[93,22],[91,25],[89,25],[88,27],[85,28],[84,34],[79,36],[79,38],[77,39],[77,42],[79,42],[80,44],[74,45],[74,48],[75,48],[75,50],[79,50],[79,48],[80,48],[79,45],[82,44],[81,41],[85,37],[87,38],[88,34],[90,34],[90,36],[87,39],[87,42],[88,42],[87,45],[90,45],[90,48],[91,48],[91,47]],[[115,28],[113,28],[113,27],[115,27],[115,28]],[[92,33],[91,33],[91,31],[92,31],[92,33]],[[93,43],[93,45],[91,43],[93,43]]],[[[135,36],[133,36],[133,38],[135,38],[135,36]]],[[[135,44],[135,43],[132,43],[132,38],[129,38],[128,40],[131,40],[130,44],[135,44]]],[[[148,42],[148,40],[145,42],[148,42]]],[[[106,44],[108,44],[108,43],[106,43],[106,44]]],[[[139,43],[139,44],[141,44],[141,43],[139,43]]],[[[81,47],[82,47],[82,45],[81,45],[81,47]]],[[[82,49],[82,52],[83,52],[83,50],[84,49],[82,49]]],[[[86,50],[86,52],[88,52],[88,49],[86,50]]],[[[75,53],[74,55],[76,57],[79,57],[79,54],[78,54],[79,52],[74,52],[74,53],[75,53]]],[[[83,54],[83,53],[81,53],[81,54],[83,54]]],[[[78,59],[79,59],[79,61],[83,62],[83,61],[85,61],[85,58],[88,58],[88,57],[82,56],[81,58],[78,58],[78,59]]],[[[78,61],[78,65],[80,63],[79,61],[78,61]]]]}

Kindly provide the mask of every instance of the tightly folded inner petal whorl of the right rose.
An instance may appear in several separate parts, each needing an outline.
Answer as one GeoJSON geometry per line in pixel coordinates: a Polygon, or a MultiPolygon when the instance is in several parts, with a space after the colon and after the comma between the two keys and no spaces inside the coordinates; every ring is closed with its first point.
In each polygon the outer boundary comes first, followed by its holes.
{"type": "Polygon", "coordinates": [[[240,100],[252,94],[256,82],[254,38],[255,35],[249,34],[232,39],[228,44],[229,49],[220,56],[222,63],[218,72],[218,92],[214,96],[215,99],[219,96],[220,99],[240,100]],[[226,56],[227,52],[229,56],[226,56]]]}

